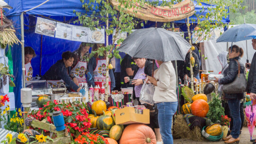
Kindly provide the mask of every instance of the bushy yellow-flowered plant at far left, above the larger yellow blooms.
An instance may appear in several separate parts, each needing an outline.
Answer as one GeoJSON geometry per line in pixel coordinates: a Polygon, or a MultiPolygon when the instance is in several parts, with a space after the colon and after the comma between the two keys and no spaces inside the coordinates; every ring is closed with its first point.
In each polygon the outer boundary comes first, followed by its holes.
{"type": "Polygon", "coordinates": [[[23,131],[23,124],[24,124],[24,118],[20,108],[18,108],[18,112],[16,112],[15,115],[13,115],[10,118],[9,122],[7,122],[4,128],[13,132],[21,133],[23,131]]]}

